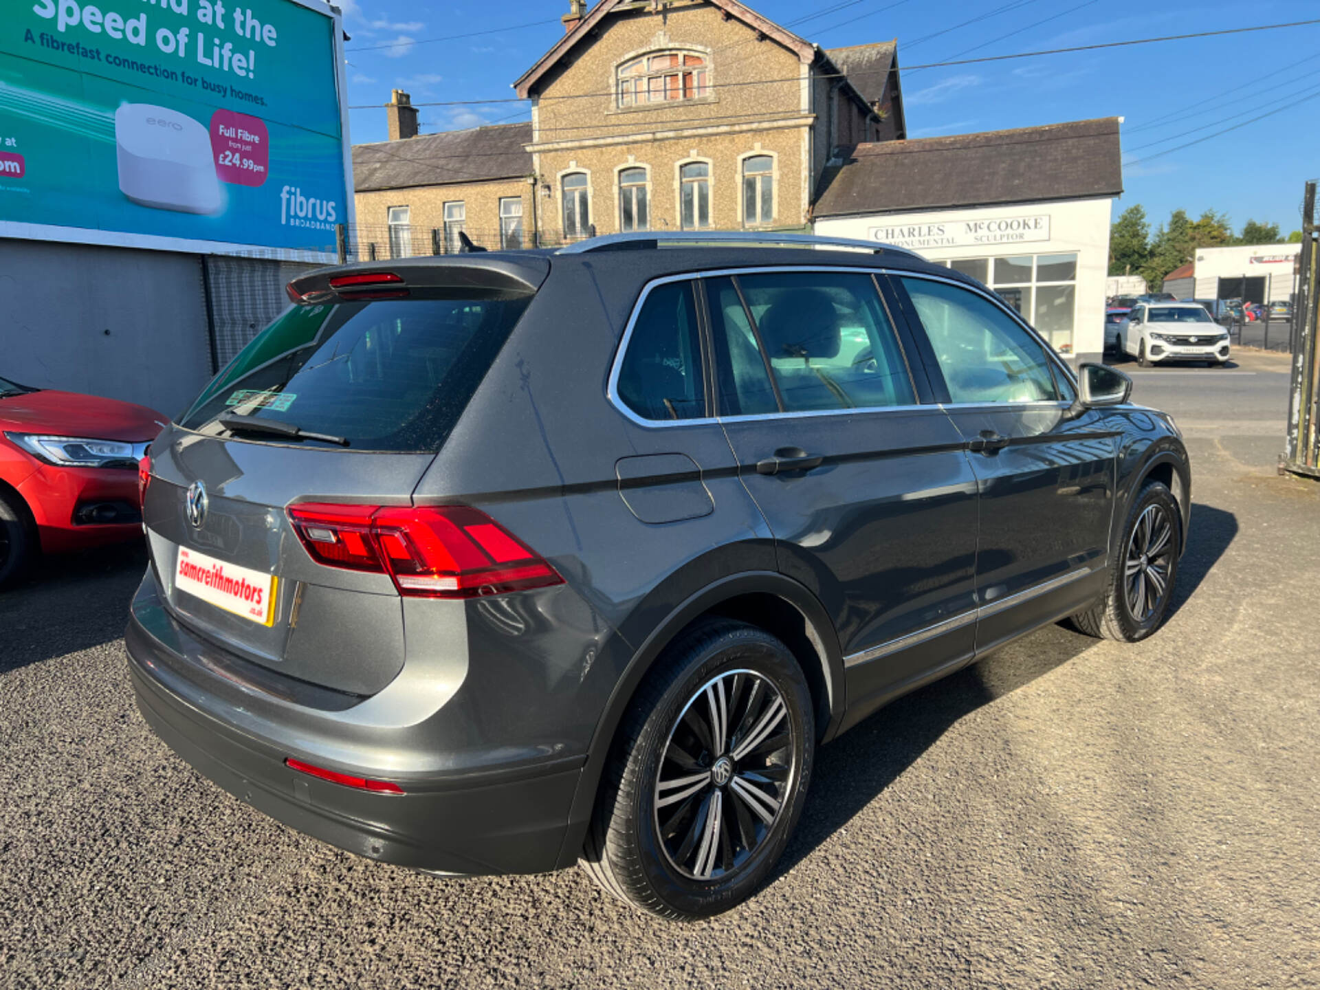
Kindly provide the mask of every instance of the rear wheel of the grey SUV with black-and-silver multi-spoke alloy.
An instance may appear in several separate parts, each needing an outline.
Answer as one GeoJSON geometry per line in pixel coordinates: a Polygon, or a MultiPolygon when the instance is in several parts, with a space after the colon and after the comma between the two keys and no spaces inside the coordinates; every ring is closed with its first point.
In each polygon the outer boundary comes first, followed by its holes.
{"type": "Polygon", "coordinates": [[[814,750],[810,692],[788,647],[727,619],[686,630],[619,726],[583,867],[610,894],[665,919],[741,904],[797,825],[814,750]]]}

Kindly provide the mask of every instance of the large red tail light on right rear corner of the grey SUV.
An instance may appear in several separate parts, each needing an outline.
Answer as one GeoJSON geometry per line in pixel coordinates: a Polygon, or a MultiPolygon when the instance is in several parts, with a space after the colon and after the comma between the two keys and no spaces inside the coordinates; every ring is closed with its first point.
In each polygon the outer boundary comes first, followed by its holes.
{"type": "Polygon", "coordinates": [[[389,574],[403,595],[479,598],[564,583],[544,557],[466,506],[301,504],[289,517],[313,560],[389,574]]]}

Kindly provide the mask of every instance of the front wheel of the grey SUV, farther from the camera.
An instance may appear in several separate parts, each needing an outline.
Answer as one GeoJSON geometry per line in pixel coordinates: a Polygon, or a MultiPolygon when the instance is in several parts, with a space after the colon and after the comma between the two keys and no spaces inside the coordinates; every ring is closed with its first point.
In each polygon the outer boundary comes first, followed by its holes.
{"type": "Polygon", "coordinates": [[[1181,549],[1177,500],[1163,482],[1147,482],[1133,502],[1122,536],[1110,554],[1104,597],[1073,615],[1072,627],[1088,636],[1123,643],[1139,643],[1150,636],[1168,616],[1181,549]],[[1150,520],[1150,529],[1143,529],[1146,520],[1150,520]],[[1143,544],[1154,544],[1155,552],[1143,557],[1143,544]],[[1127,572],[1137,565],[1142,565],[1140,572],[1129,577],[1127,572]],[[1155,577],[1151,577],[1152,570],[1155,577]],[[1156,595],[1159,579],[1164,585],[1156,595]],[[1135,603],[1138,594],[1143,595],[1139,605],[1135,603]]]}

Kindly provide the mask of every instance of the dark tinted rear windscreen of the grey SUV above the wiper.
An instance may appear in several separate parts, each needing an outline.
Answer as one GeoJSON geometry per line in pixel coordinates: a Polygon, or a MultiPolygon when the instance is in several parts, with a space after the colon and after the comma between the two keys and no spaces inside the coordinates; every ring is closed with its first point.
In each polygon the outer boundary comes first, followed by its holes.
{"type": "Polygon", "coordinates": [[[474,298],[467,290],[463,298],[293,306],[178,422],[223,436],[218,418],[238,413],[339,437],[350,450],[440,450],[531,298],[474,298]]]}

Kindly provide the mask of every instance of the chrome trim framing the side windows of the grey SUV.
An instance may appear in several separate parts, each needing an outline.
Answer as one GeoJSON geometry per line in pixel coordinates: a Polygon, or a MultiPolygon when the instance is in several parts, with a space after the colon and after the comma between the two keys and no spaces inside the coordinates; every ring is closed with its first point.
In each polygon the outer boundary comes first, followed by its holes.
{"type": "MultiPolygon", "coordinates": [[[[609,235],[611,238],[622,235],[609,235]]],[[[649,236],[649,234],[639,235],[642,239],[649,236]]],[[[958,281],[957,279],[944,279],[937,275],[928,275],[925,272],[906,272],[902,269],[883,268],[883,267],[861,267],[861,265],[742,265],[737,268],[711,268],[698,272],[684,272],[682,275],[665,275],[659,279],[652,279],[642,289],[642,294],[638,297],[636,304],[632,306],[632,313],[628,315],[628,325],[623,330],[623,337],[619,338],[619,345],[615,348],[614,363],[610,366],[610,379],[606,384],[606,397],[610,404],[614,405],[620,413],[623,413],[628,420],[639,426],[651,428],[665,428],[665,426],[701,426],[710,425],[713,422],[747,422],[752,420],[771,420],[771,418],[801,418],[805,416],[850,416],[855,413],[878,413],[878,412],[915,412],[924,409],[1024,409],[1031,407],[1038,408],[1063,408],[1067,409],[1072,405],[1065,399],[1051,399],[1045,401],[1018,401],[1018,403],[919,403],[916,405],[859,405],[851,409],[809,409],[809,411],[796,411],[796,412],[772,412],[772,413],[748,413],[746,416],[704,416],[690,420],[644,420],[638,416],[627,404],[619,399],[618,384],[619,384],[619,371],[623,366],[623,355],[628,350],[628,342],[632,339],[632,329],[636,326],[638,317],[642,314],[642,308],[645,305],[647,298],[651,296],[651,290],[659,285],[668,285],[669,282],[677,281],[696,281],[697,279],[718,279],[721,276],[731,275],[767,275],[776,272],[855,272],[862,275],[891,275],[898,277],[912,277],[912,279],[928,279],[936,282],[946,282],[948,285],[954,285],[968,292],[975,293],[989,302],[998,306],[1001,310],[1008,314],[1023,330],[1026,330],[1031,339],[1039,343],[1044,351],[1047,360],[1052,360],[1053,364],[1063,370],[1072,383],[1073,391],[1077,389],[1077,376],[1073,375],[1072,368],[1064,362],[1055,348],[1045,342],[1040,334],[1031,329],[1031,325],[1022,319],[1022,317],[1014,312],[1011,306],[1003,302],[1003,300],[997,298],[991,292],[981,289],[974,285],[968,285],[966,282],[958,281]]],[[[924,327],[919,327],[921,333],[925,333],[924,327]]]]}

